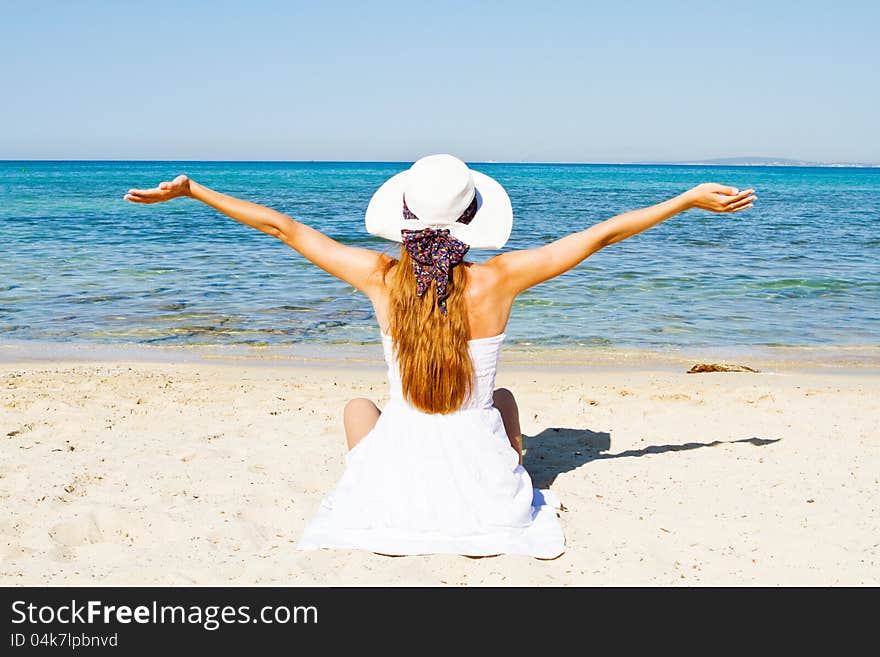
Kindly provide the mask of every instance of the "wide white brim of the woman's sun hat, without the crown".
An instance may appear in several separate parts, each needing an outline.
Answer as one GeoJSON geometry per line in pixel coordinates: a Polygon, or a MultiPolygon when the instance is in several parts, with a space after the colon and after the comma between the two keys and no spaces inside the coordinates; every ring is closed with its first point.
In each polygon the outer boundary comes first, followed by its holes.
{"type": "Polygon", "coordinates": [[[403,218],[403,192],[406,176],[402,171],[376,190],[365,217],[367,232],[394,242],[402,242],[400,231],[433,227],[448,228],[449,233],[473,249],[500,249],[513,229],[513,206],[504,188],[493,178],[470,170],[477,190],[477,212],[469,224],[438,224],[403,218]]]}

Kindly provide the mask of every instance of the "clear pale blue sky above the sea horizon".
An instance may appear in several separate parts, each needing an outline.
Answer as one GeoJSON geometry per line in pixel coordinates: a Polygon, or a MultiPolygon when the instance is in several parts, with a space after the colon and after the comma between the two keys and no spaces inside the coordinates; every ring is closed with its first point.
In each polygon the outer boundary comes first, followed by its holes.
{"type": "Polygon", "coordinates": [[[7,2],[0,158],[880,162],[880,2],[7,2]]]}

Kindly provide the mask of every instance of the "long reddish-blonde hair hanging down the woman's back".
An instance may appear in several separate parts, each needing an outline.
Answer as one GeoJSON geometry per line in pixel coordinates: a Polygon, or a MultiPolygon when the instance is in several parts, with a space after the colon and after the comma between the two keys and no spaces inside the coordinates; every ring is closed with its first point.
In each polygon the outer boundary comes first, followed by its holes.
{"type": "MultiPolygon", "coordinates": [[[[403,245],[396,264],[388,316],[403,396],[425,413],[451,413],[461,408],[474,387],[465,263],[452,268],[445,315],[437,306],[434,284],[421,297],[416,294],[412,259],[403,245]]],[[[385,273],[394,265],[390,262],[385,273]]]]}

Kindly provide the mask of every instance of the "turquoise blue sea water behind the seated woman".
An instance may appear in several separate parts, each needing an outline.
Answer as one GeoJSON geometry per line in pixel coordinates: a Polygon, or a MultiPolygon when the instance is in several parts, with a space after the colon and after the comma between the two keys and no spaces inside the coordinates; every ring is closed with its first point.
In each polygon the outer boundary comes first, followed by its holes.
{"type": "MultiPolygon", "coordinates": [[[[0,343],[376,343],[365,297],[191,199],[123,200],[186,173],[347,244],[395,253],[363,212],[400,163],[0,162],[0,343]]],[[[513,201],[505,249],[544,244],[700,182],[754,187],[690,211],[516,302],[511,343],[880,345],[880,169],[473,164],[513,201]]],[[[472,251],[482,261],[491,251],[472,251]]]]}

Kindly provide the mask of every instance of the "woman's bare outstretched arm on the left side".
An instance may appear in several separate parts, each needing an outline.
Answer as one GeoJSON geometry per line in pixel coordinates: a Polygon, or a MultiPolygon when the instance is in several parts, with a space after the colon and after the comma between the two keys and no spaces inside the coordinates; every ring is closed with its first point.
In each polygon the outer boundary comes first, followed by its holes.
{"type": "Polygon", "coordinates": [[[161,203],[188,196],[236,221],[277,237],[321,269],[370,295],[381,283],[382,271],[392,259],[382,253],[346,246],[285,214],[257,203],[215,192],[187,176],[159,183],[152,189],[130,189],[125,199],[133,203],[161,203]]]}

